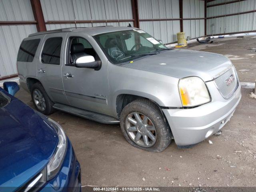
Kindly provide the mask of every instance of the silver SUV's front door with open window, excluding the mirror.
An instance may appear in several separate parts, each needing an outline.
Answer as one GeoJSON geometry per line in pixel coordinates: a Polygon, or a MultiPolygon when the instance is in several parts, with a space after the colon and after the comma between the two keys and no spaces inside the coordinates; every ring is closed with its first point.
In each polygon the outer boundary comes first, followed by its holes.
{"type": "Polygon", "coordinates": [[[70,106],[108,114],[107,60],[100,59],[101,55],[95,51],[100,49],[99,46],[84,33],[77,33],[76,36],[68,34],[67,38],[66,63],[62,66],[62,78],[70,106]],[[101,60],[101,68],[76,68],[72,61],[82,55],[91,55],[96,61],[101,60]]]}

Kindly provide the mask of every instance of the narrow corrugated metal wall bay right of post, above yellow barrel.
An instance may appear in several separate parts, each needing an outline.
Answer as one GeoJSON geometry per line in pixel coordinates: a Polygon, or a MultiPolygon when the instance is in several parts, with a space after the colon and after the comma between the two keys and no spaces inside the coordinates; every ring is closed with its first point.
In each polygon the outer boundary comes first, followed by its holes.
{"type": "MultiPolygon", "coordinates": [[[[183,18],[204,18],[204,1],[183,0],[183,18]]],[[[183,20],[186,36],[197,38],[204,36],[204,19],[183,20]]]]}

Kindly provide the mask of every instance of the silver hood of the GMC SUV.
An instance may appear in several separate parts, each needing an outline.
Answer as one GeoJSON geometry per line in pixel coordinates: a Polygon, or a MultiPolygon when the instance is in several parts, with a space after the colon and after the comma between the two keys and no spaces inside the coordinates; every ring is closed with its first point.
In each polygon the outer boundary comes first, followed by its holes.
{"type": "Polygon", "coordinates": [[[164,50],[159,54],[144,56],[122,66],[160,73],[176,78],[198,76],[210,81],[230,68],[232,63],[223,55],[194,50],[164,50]]]}

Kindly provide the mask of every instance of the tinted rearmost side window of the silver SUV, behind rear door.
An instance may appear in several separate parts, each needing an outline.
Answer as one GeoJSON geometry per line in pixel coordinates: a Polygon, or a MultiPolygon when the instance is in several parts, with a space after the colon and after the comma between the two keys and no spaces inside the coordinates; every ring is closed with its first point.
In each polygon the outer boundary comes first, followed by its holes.
{"type": "Polygon", "coordinates": [[[40,39],[22,41],[18,52],[17,61],[32,62],[40,39]]]}

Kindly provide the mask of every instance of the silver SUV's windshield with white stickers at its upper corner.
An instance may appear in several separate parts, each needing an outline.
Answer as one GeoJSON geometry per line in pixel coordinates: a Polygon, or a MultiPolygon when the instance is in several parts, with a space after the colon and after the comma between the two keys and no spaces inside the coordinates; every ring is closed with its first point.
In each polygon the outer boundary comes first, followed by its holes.
{"type": "Polygon", "coordinates": [[[143,30],[124,30],[94,36],[108,59],[114,63],[132,61],[135,58],[157,54],[168,49],[143,30]]]}

